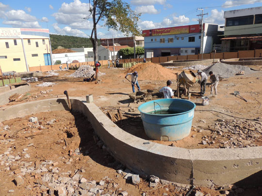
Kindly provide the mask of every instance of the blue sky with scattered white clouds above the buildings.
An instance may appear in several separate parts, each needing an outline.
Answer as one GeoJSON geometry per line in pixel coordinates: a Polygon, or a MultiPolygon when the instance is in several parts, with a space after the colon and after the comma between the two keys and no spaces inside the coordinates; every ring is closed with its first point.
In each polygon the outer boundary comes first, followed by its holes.
{"type": "MultiPolygon", "coordinates": [[[[224,24],[224,11],[262,6],[262,0],[123,0],[132,10],[142,13],[141,30],[197,24],[203,8],[204,22],[224,24]]],[[[92,21],[89,0],[1,0],[0,27],[43,28],[51,34],[89,37],[92,21]]],[[[102,23],[100,23],[102,25],[102,23]]],[[[119,31],[98,26],[98,38],[122,37],[119,31]]]]}

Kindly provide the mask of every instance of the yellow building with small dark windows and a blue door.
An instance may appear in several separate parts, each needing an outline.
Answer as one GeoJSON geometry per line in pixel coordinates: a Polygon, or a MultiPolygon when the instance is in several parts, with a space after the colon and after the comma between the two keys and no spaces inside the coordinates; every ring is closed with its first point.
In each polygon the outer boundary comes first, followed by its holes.
{"type": "Polygon", "coordinates": [[[2,72],[29,72],[30,67],[51,65],[48,29],[0,28],[2,72]]]}

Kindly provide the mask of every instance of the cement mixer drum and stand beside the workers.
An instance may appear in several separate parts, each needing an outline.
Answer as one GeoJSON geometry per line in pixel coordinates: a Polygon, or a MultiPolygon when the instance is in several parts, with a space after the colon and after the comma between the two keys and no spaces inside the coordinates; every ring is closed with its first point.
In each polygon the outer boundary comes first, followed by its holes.
{"type": "Polygon", "coordinates": [[[188,96],[189,88],[196,83],[197,76],[191,70],[184,70],[179,75],[179,88],[181,85],[185,87],[186,96],[188,96]]]}

